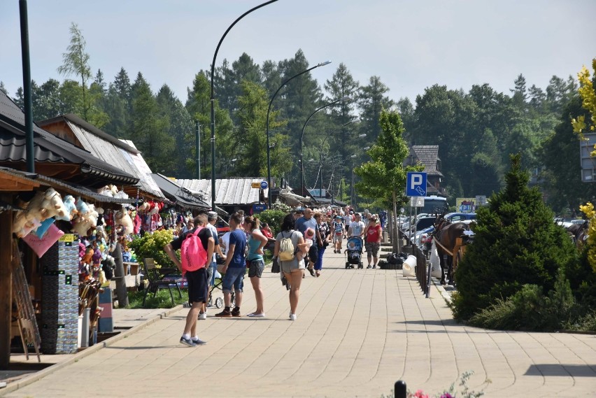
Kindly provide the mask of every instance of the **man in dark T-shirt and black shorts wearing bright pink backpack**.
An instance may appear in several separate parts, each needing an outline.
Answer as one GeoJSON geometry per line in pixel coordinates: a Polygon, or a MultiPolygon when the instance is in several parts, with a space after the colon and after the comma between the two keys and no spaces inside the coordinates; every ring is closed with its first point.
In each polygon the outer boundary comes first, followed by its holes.
{"type": "MultiPolygon", "coordinates": [[[[211,263],[211,257],[213,257],[213,250],[215,248],[215,240],[211,235],[211,231],[205,227],[206,224],[206,215],[199,214],[196,218],[194,218],[194,225],[197,225],[199,228],[203,228],[197,236],[199,236],[201,244],[207,252],[206,264],[202,268],[197,269],[197,271],[187,271],[185,273],[186,280],[188,281],[188,302],[190,303],[190,310],[188,311],[188,315],[186,315],[186,325],[184,327],[184,333],[182,337],[180,337],[180,343],[191,347],[206,343],[206,341],[202,341],[199,339],[199,336],[197,336],[197,320],[199,311],[201,306],[206,303],[209,297],[209,282],[207,280],[206,267],[209,266],[209,263],[211,263]]],[[[178,238],[164,246],[164,250],[168,257],[170,257],[172,262],[176,264],[178,269],[180,269],[180,272],[182,272],[182,264],[180,263],[180,260],[178,260],[178,257],[176,257],[175,252],[176,250],[180,250],[182,247],[182,242],[187,238],[187,236],[194,234],[195,231],[196,229],[192,229],[186,234],[178,236],[178,238]]]]}

